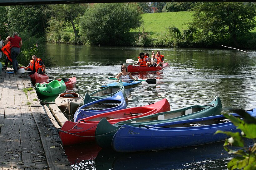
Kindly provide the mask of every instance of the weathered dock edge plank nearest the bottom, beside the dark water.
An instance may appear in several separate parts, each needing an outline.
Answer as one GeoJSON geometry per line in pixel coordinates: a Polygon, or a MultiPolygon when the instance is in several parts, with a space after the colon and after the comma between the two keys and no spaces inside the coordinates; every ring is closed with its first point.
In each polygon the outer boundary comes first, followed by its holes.
{"type": "Polygon", "coordinates": [[[56,146],[56,143],[50,137],[41,136],[41,139],[48,166],[51,169],[71,169],[62,146],[56,146]]]}

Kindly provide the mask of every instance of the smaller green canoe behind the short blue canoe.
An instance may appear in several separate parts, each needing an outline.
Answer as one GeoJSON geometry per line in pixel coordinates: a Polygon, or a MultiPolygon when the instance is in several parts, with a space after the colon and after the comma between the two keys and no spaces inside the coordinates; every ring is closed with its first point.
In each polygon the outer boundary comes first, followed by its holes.
{"type": "Polygon", "coordinates": [[[113,94],[116,94],[119,91],[122,91],[122,94],[125,98],[126,97],[125,87],[124,87],[121,80],[119,80],[118,83],[116,83],[116,85],[107,86],[104,89],[97,90],[97,91],[95,91],[91,94],[85,93],[84,104],[93,102],[95,100],[110,97],[110,96],[112,96],[113,94]]]}

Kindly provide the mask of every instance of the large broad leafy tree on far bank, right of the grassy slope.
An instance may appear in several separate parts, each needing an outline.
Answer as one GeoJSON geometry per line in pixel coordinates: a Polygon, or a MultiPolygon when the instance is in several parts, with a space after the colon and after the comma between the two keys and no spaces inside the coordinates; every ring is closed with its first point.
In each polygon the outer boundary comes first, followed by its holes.
{"type": "Polygon", "coordinates": [[[253,30],[256,8],[250,2],[198,2],[193,8],[191,26],[201,30],[202,36],[215,39],[229,37],[239,47],[237,37],[253,30]]]}

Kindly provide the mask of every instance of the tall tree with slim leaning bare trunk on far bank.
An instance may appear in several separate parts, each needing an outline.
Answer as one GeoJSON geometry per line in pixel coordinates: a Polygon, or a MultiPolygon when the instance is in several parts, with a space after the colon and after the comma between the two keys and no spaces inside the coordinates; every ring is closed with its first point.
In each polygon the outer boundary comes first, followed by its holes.
{"type": "Polygon", "coordinates": [[[78,19],[80,15],[84,14],[87,5],[84,4],[58,4],[49,5],[52,10],[52,16],[59,21],[69,22],[72,25],[75,40],[77,37],[76,25],[78,24],[78,19]]]}

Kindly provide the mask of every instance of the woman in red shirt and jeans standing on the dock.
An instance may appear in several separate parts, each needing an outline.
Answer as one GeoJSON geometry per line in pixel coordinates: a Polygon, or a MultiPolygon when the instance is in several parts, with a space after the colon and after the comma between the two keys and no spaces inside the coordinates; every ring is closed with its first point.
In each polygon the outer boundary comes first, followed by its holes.
{"type": "Polygon", "coordinates": [[[8,36],[4,43],[7,43],[8,41],[11,42],[12,48],[11,48],[11,58],[12,58],[12,67],[13,67],[13,73],[17,74],[18,68],[18,62],[17,62],[17,56],[20,54],[20,48],[22,47],[22,39],[19,37],[19,34],[17,32],[14,32],[12,34],[12,37],[8,36]]]}

